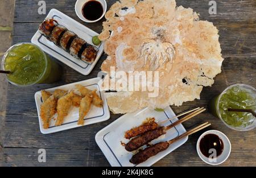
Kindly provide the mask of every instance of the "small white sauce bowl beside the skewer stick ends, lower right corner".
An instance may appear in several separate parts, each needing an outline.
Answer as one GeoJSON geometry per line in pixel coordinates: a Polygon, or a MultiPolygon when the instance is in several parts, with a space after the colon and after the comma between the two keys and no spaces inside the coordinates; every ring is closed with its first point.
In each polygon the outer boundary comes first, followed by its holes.
{"type": "Polygon", "coordinates": [[[199,155],[201,160],[203,160],[205,163],[210,164],[210,165],[219,165],[219,164],[224,163],[229,158],[229,155],[231,152],[231,143],[230,143],[228,137],[224,133],[221,133],[218,130],[209,130],[209,131],[206,131],[204,134],[202,134],[199,137],[199,139],[197,140],[196,150],[197,150],[197,154],[199,155]],[[222,154],[217,156],[215,161],[204,156],[199,147],[201,139],[205,135],[208,135],[208,134],[218,135],[222,139],[223,144],[224,144],[224,150],[223,150],[222,154]]]}

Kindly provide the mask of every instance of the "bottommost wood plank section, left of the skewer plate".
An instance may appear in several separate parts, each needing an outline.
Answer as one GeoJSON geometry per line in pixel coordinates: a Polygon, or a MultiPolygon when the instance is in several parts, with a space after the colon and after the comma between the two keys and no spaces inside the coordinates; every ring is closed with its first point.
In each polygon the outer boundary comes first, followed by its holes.
{"type": "Polygon", "coordinates": [[[38,162],[37,148],[4,148],[0,166],[109,166],[100,150],[46,149],[46,163],[38,162]],[[25,164],[24,164],[25,163],[25,164]]]}

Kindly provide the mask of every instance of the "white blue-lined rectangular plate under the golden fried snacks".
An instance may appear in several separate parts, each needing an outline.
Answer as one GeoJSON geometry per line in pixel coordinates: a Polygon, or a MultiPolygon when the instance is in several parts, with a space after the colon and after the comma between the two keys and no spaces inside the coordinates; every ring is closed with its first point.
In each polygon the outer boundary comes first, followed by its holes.
{"type": "MultiPolygon", "coordinates": [[[[73,84],[68,84],[68,85],[59,86],[56,88],[47,89],[46,91],[53,93],[54,90],[56,89],[76,90],[75,85],[77,84],[86,86],[86,88],[90,90],[97,89],[97,94],[101,97],[101,100],[103,101],[103,107],[100,108],[100,107],[92,106],[89,113],[85,117],[84,126],[86,126],[86,125],[91,125],[93,123],[107,121],[110,118],[110,111],[109,111],[108,104],[106,102],[105,94],[103,91],[100,91],[100,87],[98,85],[98,82],[100,81],[101,81],[101,78],[92,78],[90,80],[85,80],[85,81],[76,82],[73,84]]],[[[65,117],[64,119],[63,125],[55,126],[56,121],[52,119],[49,129],[44,129],[42,119],[40,117],[40,106],[43,103],[41,91],[35,93],[35,102],[36,102],[36,108],[38,110],[40,131],[42,134],[51,134],[51,133],[56,133],[63,130],[81,127],[81,125],[77,125],[77,121],[79,120],[79,108],[72,106],[72,109],[69,111],[68,116],[65,117]]],[[[56,117],[57,117],[57,114],[53,118],[56,118],[56,117]]]]}

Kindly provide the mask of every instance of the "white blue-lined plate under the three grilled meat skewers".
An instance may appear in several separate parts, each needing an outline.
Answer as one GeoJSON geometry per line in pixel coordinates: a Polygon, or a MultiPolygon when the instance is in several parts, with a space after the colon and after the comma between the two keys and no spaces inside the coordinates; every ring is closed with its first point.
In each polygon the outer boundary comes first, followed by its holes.
{"type": "MultiPolygon", "coordinates": [[[[129,140],[124,138],[125,131],[132,129],[133,127],[140,126],[146,118],[155,117],[156,121],[164,121],[167,118],[175,117],[174,111],[171,107],[167,107],[164,112],[157,112],[149,108],[137,111],[131,114],[125,114],[109,126],[105,127],[99,131],[96,136],[96,142],[101,148],[101,151],[108,159],[109,163],[113,167],[148,167],[152,164],[155,164],[164,156],[170,154],[176,148],[180,147],[182,144],[187,142],[188,136],[171,144],[170,147],[163,152],[160,152],[158,155],[153,156],[148,159],[146,162],[139,165],[134,165],[129,162],[131,157],[134,155],[134,152],[128,152],[125,150],[125,147],[121,145],[121,142],[127,143],[129,140]]],[[[178,119],[173,119],[170,122],[167,122],[164,126],[170,125],[171,123],[177,121],[178,119]]],[[[167,141],[175,138],[178,135],[185,133],[183,125],[177,125],[175,128],[167,131],[166,135],[160,136],[160,138],[153,140],[151,143],[158,143],[162,141],[167,141]]]]}

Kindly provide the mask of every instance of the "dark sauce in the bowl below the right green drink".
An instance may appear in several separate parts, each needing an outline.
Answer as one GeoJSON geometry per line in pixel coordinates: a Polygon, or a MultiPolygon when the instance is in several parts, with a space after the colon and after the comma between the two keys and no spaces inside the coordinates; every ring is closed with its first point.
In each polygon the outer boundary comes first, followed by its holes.
{"type": "Polygon", "coordinates": [[[224,144],[218,135],[208,134],[200,140],[199,147],[202,154],[209,158],[212,155],[212,152],[209,153],[209,150],[212,148],[216,150],[217,156],[220,156],[223,152],[224,144]]]}

